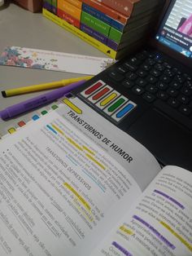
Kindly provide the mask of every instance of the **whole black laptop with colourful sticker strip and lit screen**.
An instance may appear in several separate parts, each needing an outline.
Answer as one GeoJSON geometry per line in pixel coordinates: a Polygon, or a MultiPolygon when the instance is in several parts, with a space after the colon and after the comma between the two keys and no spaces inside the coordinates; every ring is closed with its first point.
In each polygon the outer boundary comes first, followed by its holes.
{"type": "Polygon", "coordinates": [[[74,94],[162,166],[192,171],[192,0],[171,1],[150,42],[74,94]]]}

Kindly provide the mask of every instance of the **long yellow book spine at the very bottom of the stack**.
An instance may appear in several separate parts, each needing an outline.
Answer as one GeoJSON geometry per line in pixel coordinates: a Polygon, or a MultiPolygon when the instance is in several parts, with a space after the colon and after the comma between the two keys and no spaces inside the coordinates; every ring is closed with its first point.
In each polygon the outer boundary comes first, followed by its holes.
{"type": "Polygon", "coordinates": [[[69,24],[66,20],[60,19],[57,15],[51,13],[50,11],[47,11],[45,8],[42,9],[42,15],[44,15],[47,19],[55,22],[55,24],[58,24],[63,29],[66,29],[69,32],[75,34],[77,37],[89,43],[91,46],[94,46],[99,51],[102,51],[104,54],[108,55],[112,59],[116,59],[116,51],[112,50],[109,46],[104,45],[102,42],[99,42],[95,38],[90,37],[87,33],[84,33],[80,29],[77,29],[72,24],[69,24]]]}

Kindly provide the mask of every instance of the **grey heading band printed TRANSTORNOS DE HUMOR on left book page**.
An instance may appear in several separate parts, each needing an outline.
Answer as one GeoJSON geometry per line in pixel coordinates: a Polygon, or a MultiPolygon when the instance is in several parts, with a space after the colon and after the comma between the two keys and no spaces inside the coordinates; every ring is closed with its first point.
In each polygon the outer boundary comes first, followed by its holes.
{"type": "Polygon", "coordinates": [[[57,112],[116,159],[144,190],[161,170],[151,152],[92,108],[88,108],[81,99],[63,99],[63,103],[57,112]]]}

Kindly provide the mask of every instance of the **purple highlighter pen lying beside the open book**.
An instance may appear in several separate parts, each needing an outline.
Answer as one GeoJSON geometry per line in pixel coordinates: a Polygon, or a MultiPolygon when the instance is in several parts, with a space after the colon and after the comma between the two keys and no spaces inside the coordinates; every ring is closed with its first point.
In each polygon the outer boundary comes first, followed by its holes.
{"type": "Polygon", "coordinates": [[[0,112],[0,117],[2,117],[3,120],[7,120],[11,117],[16,117],[22,113],[26,113],[30,110],[41,107],[42,105],[49,104],[55,99],[63,97],[63,95],[66,95],[71,90],[76,89],[78,86],[81,86],[84,82],[85,80],[73,82],[68,86],[63,86],[59,89],[51,90],[44,95],[39,95],[19,104],[12,105],[11,107],[3,109],[0,112]]]}

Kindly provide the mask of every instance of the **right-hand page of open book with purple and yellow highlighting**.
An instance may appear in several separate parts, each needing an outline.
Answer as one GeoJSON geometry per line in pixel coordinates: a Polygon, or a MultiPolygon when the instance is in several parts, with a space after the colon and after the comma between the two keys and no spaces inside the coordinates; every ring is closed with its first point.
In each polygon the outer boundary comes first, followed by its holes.
{"type": "Polygon", "coordinates": [[[192,255],[192,174],[165,167],[91,256],[192,255]]]}

